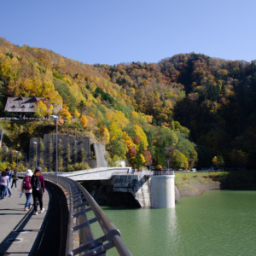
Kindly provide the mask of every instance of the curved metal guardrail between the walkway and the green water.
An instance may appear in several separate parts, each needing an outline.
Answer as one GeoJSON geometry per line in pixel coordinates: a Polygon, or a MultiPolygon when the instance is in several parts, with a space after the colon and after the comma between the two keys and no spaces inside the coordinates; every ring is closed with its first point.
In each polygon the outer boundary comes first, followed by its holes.
{"type": "MultiPolygon", "coordinates": [[[[19,177],[24,177],[24,173],[19,173],[19,177]]],[[[66,255],[73,256],[81,253],[83,256],[107,255],[107,251],[116,247],[120,256],[131,256],[131,253],[125,247],[120,238],[120,232],[116,229],[102,208],[96,203],[92,196],[79,183],[68,177],[55,177],[53,175],[44,175],[44,179],[60,184],[67,190],[69,223],[67,230],[66,255]],[[89,207],[88,207],[89,205],[89,207]],[[95,218],[88,218],[87,212],[92,211],[95,218]],[[73,226],[73,218],[77,218],[77,225],[73,226]],[[104,236],[94,237],[90,224],[98,222],[104,236]],[[79,230],[80,247],[73,249],[73,231],[79,230]],[[103,243],[105,242],[106,243],[103,243]]]]}

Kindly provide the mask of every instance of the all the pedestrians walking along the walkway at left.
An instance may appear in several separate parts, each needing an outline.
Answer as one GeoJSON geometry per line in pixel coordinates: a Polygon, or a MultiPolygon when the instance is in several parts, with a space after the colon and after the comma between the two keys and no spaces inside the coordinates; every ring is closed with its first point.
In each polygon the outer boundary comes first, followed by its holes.
{"type": "MultiPolygon", "coordinates": [[[[9,197],[12,197],[11,188],[15,184],[15,189],[17,188],[17,172],[14,174],[9,168],[2,171],[0,176],[0,200],[4,200],[7,196],[7,190],[9,192],[9,197]],[[10,186],[11,178],[13,178],[13,183],[10,186]]],[[[42,175],[42,168],[36,167],[34,173],[32,170],[28,169],[25,173],[25,177],[22,179],[20,187],[20,196],[24,193],[26,195],[26,204],[24,211],[31,209],[31,197],[33,198],[34,214],[38,215],[38,205],[40,207],[39,213],[44,212],[43,208],[43,195],[44,195],[44,176],[42,175]]]]}

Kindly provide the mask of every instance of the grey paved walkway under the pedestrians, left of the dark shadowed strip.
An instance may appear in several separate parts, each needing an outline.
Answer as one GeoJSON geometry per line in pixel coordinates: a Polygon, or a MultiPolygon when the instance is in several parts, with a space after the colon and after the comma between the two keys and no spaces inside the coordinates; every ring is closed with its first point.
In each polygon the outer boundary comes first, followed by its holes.
{"type": "Polygon", "coordinates": [[[45,189],[43,196],[45,212],[33,215],[33,208],[25,212],[26,196],[23,194],[20,198],[20,182],[21,180],[17,181],[16,190],[12,189],[12,197],[8,195],[4,201],[0,201],[0,255],[10,253],[11,256],[31,256],[34,245],[42,237],[49,194],[45,189]]]}

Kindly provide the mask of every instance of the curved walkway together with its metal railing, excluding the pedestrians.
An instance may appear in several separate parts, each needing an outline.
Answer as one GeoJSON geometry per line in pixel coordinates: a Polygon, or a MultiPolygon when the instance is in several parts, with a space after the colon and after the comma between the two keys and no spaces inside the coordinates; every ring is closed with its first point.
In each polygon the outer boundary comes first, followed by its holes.
{"type": "MultiPolygon", "coordinates": [[[[19,174],[19,177],[23,176],[19,174]]],[[[19,199],[19,189],[12,189],[13,197],[1,201],[0,255],[94,256],[107,255],[113,247],[121,256],[131,255],[120,238],[119,230],[82,185],[67,177],[45,175],[44,178],[47,188],[45,212],[38,215],[33,215],[32,209],[24,212],[25,199],[23,203],[19,199]],[[55,206],[49,205],[56,194],[61,211],[60,216],[53,220],[55,212],[50,211],[55,206]],[[92,218],[89,218],[90,212],[93,213],[92,218]],[[58,232],[56,222],[59,223],[58,232]],[[103,236],[95,238],[91,225],[94,223],[99,224],[103,236]]]]}

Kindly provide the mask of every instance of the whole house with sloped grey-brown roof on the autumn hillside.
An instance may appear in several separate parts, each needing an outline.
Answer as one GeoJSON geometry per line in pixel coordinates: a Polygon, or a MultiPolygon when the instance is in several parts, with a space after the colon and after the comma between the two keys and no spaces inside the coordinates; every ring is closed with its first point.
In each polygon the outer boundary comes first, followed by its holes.
{"type": "Polygon", "coordinates": [[[8,97],[4,110],[9,112],[9,116],[14,113],[17,118],[31,117],[41,99],[44,100],[44,97],[8,97]]]}

